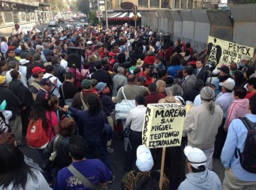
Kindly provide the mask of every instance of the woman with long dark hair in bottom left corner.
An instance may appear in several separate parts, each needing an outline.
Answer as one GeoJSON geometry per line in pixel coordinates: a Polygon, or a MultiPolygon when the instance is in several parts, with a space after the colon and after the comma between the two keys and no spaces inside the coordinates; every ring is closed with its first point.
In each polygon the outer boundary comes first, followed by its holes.
{"type": "Polygon", "coordinates": [[[26,164],[23,153],[15,146],[14,135],[0,136],[0,189],[50,190],[42,173],[26,164]]]}

